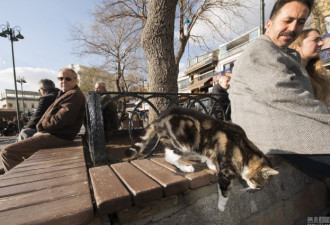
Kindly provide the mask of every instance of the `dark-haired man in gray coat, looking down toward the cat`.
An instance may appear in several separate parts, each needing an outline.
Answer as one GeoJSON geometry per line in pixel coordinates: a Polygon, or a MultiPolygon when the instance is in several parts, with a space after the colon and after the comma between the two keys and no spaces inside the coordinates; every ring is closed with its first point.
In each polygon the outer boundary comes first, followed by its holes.
{"type": "Polygon", "coordinates": [[[265,35],[235,62],[229,98],[232,121],[264,153],[283,154],[304,166],[321,163],[325,167],[318,172],[330,175],[330,114],[315,99],[299,53],[288,48],[312,5],[308,0],[276,1],[265,35]]]}

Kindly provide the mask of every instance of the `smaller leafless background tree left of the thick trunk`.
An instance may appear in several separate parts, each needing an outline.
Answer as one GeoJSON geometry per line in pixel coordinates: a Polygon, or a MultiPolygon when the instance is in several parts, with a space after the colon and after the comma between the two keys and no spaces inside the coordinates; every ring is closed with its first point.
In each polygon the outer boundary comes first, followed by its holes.
{"type": "Polygon", "coordinates": [[[125,73],[134,72],[136,76],[142,76],[146,71],[138,32],[140,23],[130,18],[109,20],[103,15],[94,13],[95,22],[87,28],[72,26],[74,53],[101,56],[103,61],[97,67],[115,75],[118,91],[127,91],[129,85],[125,81],[125,73]]]}

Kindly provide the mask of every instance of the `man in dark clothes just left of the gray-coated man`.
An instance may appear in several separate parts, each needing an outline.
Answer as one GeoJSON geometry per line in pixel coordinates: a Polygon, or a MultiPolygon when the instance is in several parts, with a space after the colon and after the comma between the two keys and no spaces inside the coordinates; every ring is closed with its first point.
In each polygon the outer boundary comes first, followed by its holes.
{"type": "Polygon", "coordinates": [[[221,120],[231,120],[230,118],[230,101],[228,98],[228,88],[229,88],[230,76],[221,76],[217,78],[217,83],[214,85],[212,89],[212,94],[220,94],[215,96],[217,102],[213,102],[215,104],[214,111],[217,119],[221,120]]]}

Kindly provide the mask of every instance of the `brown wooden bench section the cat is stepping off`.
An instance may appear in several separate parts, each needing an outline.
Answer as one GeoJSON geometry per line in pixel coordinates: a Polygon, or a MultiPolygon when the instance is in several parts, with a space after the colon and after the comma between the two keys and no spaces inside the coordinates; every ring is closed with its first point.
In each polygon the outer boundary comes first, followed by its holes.
{"type": "Polygon", "coordinates": [[[197,189],[217,181],[205,164],[194,165],[194,173],[183,173],[163,157],[121,162],[89,169],[99,216],[141,206],[163,197],[197,189]]]}

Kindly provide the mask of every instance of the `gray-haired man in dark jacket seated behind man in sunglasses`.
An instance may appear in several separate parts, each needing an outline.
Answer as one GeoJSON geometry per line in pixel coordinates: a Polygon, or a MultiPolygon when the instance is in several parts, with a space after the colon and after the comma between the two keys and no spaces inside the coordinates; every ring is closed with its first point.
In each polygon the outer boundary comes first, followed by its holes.
{"type": "Polygon", "coordinates": [[[27,128],[23,129],[18,135],[18,141],[32,137],[35,133],[37,133],[37,123],[48,107],[55,101],[59,91],[60,90],[58,88],[55,88],[53,81],[49,79],[42,79],[39,81],[39,92],[41,97],[39,98],[38,107],[29,120],[27,128]]]}

